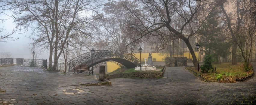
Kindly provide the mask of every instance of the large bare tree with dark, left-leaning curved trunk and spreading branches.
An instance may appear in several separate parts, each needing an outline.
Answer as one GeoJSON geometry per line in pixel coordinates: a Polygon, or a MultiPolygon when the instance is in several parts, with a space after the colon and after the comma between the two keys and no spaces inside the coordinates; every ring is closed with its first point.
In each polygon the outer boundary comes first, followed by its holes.
{"type": "Polygon", "coordinates": [[[196,67],[196,55],[189,38],[196,35],[210,11],[214,9],[214,5],[209,3],[206,0],[140,0],[142,14],[134,12],[128,6],[127,8],[144,22],[143,26],[134,27],[141,32],[138,39],[152,35],[153,32],[158,32],[162,36],[180,38],[190,50],[196,67]],[[177,22],[178,26],[172,26],[174,22],[177,22]],[[168,32],[161,32],[160,29],[168,32]]]}

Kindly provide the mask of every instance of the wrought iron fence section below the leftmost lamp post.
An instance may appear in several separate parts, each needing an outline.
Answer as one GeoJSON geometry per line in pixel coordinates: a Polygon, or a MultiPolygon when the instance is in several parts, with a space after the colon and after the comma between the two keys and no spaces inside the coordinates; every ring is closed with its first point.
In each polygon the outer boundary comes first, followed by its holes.
{"type": "Polygon", "coordinates": [[[24,59],[23,66],[43,66],[43,59],[24,59]]]}

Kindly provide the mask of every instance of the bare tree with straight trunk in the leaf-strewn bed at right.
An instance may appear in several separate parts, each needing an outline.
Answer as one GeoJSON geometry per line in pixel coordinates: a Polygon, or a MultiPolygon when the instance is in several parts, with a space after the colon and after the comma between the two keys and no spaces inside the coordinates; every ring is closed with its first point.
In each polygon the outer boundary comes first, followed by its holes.
{"type": "Polygon", "coordinates": [[[232,44],[232,64],[236,64],[236,51],[237,44],[236,40],[239,37],[240,30],[242,29],[242,24],[244,21],[244,16],[246,13],[251,11],[252,0],[216,0],[216,4],[221,8],[224,14],[224,21],[227,24],[226,32],[228,32],[228,37],[233,42],[232,44]],[[228,10],[226,8],[228,5],[232,5],[234,9],[228,10]],[[229,13],[227,13],[229,11],[229,13]]]}

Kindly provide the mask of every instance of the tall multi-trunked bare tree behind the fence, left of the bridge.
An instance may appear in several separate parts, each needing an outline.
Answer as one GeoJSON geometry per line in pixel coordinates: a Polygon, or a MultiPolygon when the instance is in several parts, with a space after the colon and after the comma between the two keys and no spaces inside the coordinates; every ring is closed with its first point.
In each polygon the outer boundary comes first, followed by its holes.
{"type": "Polygon", "coordinates": [[[56,69],[57,60],[65,47],[62,44],[66,44],[72,32],[88,37],[94,33],[91,15],[97,13],[98,6],[93,0],[12,1],[14,14],[20,14],[15,20],[17,26],[32,27],[33,33],[29,38],[34,41],[34,47],[49,50],[49,61],[54,58],[53,69],[56,69]],[[59,37],[64,38],[63,43],[60,43],[59,37]]]}

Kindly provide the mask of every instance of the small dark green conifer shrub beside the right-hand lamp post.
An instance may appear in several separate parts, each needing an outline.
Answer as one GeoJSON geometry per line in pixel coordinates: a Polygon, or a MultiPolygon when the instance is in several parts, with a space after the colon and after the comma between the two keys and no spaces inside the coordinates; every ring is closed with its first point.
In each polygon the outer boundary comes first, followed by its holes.
{"type": "Polygon", "coordinates": [[[208,73],[209,70],[213,69],[211,63],[213,62],[212,55],[205,55],[204,64],[200,66],[202,73],[208,73]]]}

